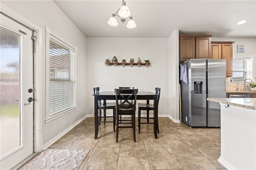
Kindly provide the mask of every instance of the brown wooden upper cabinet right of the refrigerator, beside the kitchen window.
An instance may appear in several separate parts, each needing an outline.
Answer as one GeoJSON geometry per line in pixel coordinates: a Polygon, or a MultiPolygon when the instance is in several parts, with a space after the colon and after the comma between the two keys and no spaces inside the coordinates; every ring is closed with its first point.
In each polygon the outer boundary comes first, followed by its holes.
{"type": "Polygon", "coordinates": [[[232,77],[232,60],[233,60],[233,43],[234,42],[211,42],[212,59],[226,59],[226,77],[232,77]]]}

